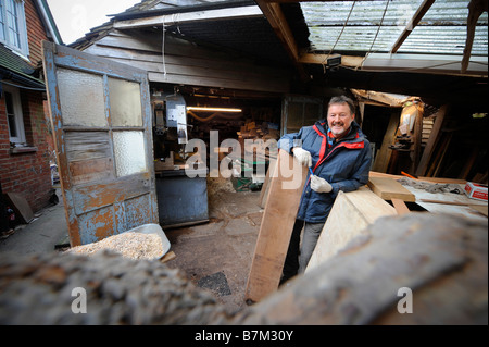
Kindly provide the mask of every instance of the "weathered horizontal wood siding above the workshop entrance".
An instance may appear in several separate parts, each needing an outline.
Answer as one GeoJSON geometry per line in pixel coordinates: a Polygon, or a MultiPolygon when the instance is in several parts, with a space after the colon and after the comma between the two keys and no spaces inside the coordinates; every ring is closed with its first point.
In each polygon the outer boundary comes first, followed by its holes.
{"type": "Polygon", "coordinates": [[[148,71],[150,82],[289,92],[290,73],[166,35],[112,30],[84,50],[148,71]],[[163,60],[164,51],[164,60],[163,60]]]}

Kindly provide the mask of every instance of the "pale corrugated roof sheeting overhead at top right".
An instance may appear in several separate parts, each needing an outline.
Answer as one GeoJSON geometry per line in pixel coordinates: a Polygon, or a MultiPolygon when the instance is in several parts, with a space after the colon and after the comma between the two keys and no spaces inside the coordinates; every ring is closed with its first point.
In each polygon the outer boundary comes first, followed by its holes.
{"type": "MultiPolygon", "coordinates": [[[[468,0],[438,0],[398,50],[463,54],[468,0]]],[[[389,52],[423,0],[301,2],[312,52],[389,52]],[[347,22],[348,20],[348,22],[347,22]]],[[[478,20],[473,55],[488,54],[488,14],[478,20]]]]}

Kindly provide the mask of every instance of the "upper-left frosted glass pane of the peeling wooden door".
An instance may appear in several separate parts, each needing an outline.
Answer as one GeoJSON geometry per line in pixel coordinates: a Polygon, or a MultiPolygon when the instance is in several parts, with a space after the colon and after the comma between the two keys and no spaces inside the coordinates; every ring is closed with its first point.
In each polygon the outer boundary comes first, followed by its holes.
{"type": "Polygon", "coordinates": [[[64,125],[108,126],[102,76],[58,69],[58,87],[64,125]]]}

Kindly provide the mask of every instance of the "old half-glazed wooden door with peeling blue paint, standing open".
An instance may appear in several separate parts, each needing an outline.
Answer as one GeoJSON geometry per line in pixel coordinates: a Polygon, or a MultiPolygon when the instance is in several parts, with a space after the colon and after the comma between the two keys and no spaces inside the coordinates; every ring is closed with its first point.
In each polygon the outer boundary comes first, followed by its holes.
{"type": "Polygon", "coordinates": [[[50,42],[43,65],[71,245],[158,223],[147,72],[50,42]]]}

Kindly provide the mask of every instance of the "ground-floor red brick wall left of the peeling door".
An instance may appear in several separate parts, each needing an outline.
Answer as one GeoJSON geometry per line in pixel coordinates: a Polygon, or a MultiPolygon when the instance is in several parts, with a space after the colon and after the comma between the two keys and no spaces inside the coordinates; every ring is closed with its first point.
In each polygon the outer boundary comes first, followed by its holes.
{"type": "Polygon", "coordinates": [[[3,193],[18,193],[38,211],[49,203],[51,190],[49,128],[42,94],[21,90],[26,140],[37,151],[13,154],[10,150],[5,102],[0,99],[0,181],[3,193]]]}

